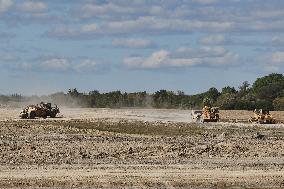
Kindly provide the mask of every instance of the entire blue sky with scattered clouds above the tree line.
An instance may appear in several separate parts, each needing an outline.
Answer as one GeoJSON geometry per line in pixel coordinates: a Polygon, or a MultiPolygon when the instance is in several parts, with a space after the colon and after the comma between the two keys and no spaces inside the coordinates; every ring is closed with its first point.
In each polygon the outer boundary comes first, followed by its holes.
{"type": "Polygon", "coordinates": [[[283,0],[0,0],[0,94],[237,88],[283,32],[283,0]]]}

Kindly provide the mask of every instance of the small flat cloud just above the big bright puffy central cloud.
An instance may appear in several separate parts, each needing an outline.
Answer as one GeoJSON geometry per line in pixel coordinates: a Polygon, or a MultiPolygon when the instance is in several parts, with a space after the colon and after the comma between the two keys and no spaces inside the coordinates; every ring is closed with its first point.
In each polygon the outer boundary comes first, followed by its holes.
{"type": "Polygon", "coordinates": [[[152,48],[155,46],[151,40],[147,39],[114,39],[112,45],[121,48],[152,48]]]}

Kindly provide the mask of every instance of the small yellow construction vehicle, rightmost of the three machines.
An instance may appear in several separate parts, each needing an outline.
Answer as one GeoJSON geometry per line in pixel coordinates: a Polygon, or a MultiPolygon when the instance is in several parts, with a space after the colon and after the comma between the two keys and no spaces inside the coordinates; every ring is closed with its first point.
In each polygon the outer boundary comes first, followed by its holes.
{"type": "Polygon", "coordinates": [[[269,113],[269,110],[255,109],[253,117],[249,119],[250,123],[275,124],[276,119],[269,113]]]}

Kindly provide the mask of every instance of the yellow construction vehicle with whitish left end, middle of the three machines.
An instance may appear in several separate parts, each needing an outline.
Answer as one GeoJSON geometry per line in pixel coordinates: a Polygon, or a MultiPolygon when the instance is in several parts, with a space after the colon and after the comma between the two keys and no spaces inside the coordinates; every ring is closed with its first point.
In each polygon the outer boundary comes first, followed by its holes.
{"type": "Polygon", "coordinates": [[[219,108],[204,106],[202,110],[192,110],[191,119],[193,122],[217,122],[220,119],[219,108]]]}

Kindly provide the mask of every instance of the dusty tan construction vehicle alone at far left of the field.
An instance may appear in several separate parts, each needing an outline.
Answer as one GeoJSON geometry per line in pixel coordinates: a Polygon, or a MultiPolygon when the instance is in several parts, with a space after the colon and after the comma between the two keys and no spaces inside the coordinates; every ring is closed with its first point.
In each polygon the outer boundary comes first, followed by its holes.
{"type": "Polygon", "coordinates": [[[21,119],[34,119],[36,117],[42,117],[42,118],[55,118],[56,114],[60,113],[59,108],[55,104],[55,106],[52,106],[51,103],[44,103],[41,102],[39,105],[29,105],[25,107],[21,113],[20,118],[21,119]]]}

